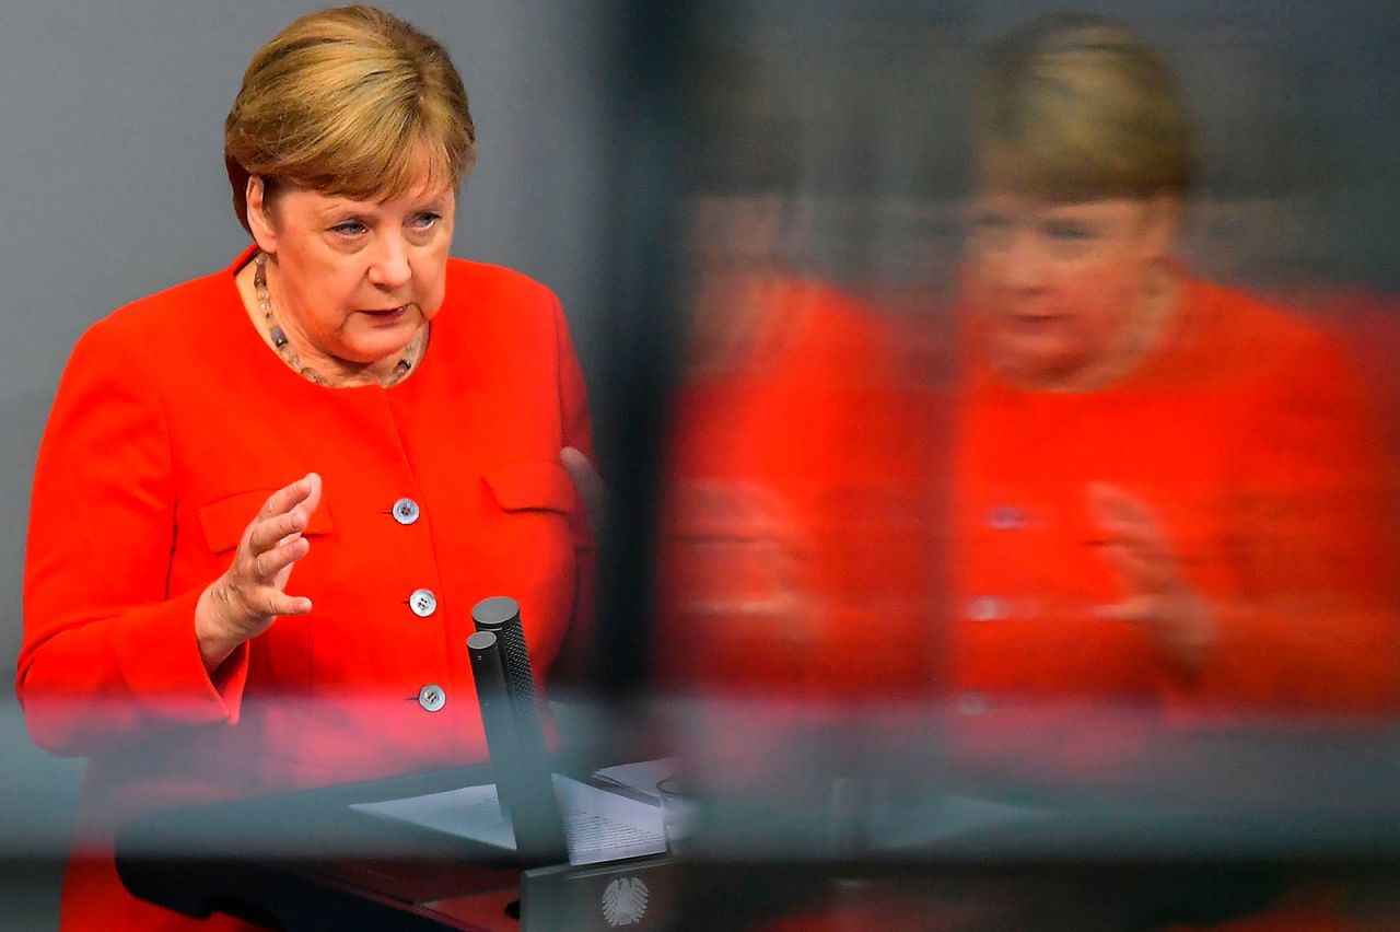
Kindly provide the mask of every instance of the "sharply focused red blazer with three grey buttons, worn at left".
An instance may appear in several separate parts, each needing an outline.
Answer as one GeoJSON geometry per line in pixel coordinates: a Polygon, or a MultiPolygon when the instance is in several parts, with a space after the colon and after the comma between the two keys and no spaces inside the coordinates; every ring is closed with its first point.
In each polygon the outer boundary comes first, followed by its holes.
{"type": "Polygon", "coordinates": [[[452,259],[419,369],[328,389],[251,325],[234,283],[249,256],[94,325],[39,448],[17,689],[35,742],[90,758],[64,928],[185,928],[112,870],[111,833],[157,800],[480,760],[472,606],[519,600],[545,669],[587,600],[559,449],[591,455],[589,423],[554,295],[452,259]],[[211,680],[199,593],[260,502],[308,470],[325,494],[288,591],[315,609],[211,680]]]}

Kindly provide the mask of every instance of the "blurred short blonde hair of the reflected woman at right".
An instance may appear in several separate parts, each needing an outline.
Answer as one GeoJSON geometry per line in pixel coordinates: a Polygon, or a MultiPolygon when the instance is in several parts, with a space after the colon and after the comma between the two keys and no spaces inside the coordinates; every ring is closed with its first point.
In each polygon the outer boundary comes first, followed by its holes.
{"type": "Polygon", "coordinates": [[[984,185],[1064,203],[1184,195],[1196,172],[1166,60],[1098,17],[1049,17],[993,46],[973,111],[984,185]]]}

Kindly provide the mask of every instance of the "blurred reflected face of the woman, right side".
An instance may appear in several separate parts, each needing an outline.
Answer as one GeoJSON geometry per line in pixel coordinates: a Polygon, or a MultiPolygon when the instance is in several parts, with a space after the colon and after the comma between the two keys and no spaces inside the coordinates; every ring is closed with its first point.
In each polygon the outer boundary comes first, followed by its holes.
{"type": "Polygon", "coordinates": [[[1049,203],[983,193],[969,239],[972,292],[993,367],[1028,388],[1082,388],[1137,346],[1175,203],[1049,203]]]}

